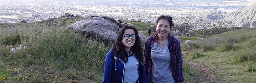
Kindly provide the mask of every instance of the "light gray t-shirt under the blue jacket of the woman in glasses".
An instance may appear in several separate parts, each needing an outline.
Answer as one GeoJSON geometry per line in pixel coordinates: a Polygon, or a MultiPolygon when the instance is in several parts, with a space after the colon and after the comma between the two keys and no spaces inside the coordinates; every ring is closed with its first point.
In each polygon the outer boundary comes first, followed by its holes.
{"type": "Polygon", "coordinates": [[[139,62],[135,56],[128,57],[128,62],[125,63],[125,72],[124,72],[124,83],[134,83],[139,78],[139,62]]]}

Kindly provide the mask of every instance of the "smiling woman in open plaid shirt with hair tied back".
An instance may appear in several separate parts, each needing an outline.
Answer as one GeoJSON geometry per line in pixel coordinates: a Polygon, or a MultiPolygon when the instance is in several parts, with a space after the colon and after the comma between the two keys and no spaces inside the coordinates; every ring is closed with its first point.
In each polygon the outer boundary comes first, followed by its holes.
{"type": "Polygon", "coordinates": [[[157,34],[145,42],[147,83],[184,82],[180,42],[169,34],[173,26],[172,17],[161,15],[157,18],[157,34]]]}

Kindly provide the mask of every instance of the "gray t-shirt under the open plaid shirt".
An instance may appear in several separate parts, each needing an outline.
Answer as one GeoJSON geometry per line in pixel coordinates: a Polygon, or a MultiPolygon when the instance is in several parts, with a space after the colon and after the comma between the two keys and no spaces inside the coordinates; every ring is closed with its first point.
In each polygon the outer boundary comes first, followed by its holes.
{"type": "Polygon", "coordinates": [[[157,42],[153,43],[150,55],[153,61],[152,81],[154,83],[174,83],[168,41],[162,48],[157,45],[157,42]]]}

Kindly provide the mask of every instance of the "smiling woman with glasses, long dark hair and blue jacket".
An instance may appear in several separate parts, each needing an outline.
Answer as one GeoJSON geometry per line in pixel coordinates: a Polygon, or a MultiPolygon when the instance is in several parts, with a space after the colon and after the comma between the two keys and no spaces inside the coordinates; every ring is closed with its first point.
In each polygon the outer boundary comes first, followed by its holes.
{"type": "Polygon", "coordinates": [[[146,83],[143,53],[137,29],[124,26],[105,56],[102,83],[146,83]]]}

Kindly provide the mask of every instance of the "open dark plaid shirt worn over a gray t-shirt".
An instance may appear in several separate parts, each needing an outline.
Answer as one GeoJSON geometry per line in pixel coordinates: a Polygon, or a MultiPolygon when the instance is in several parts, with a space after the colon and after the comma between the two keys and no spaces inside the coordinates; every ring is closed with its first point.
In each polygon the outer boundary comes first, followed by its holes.
{"type": "MultiPolygon", "coordinates": [[[[152,83],[152,59],[151,59],[151,45],[154,42],[158,42],[158,34],[155,34],[154,37],[149,37],[144,46],[144,68],[147,76],[147,83],[152,83]]],[[[180,42],[168,34],[168,49],[171,57],[171,66],[172,66],[172,77],[175,80],[175,83],[183,83],[183,64],[182,64],[182,54],[180,42]]]]}

